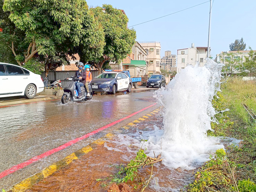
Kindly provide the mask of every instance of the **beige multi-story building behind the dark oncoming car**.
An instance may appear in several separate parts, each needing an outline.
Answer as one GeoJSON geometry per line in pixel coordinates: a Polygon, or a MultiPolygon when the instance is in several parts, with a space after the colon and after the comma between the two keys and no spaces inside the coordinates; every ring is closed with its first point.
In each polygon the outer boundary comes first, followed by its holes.
{"type": "Polygon", "coordinates": [[[147,53],[148,74],[160,74],[160,42],[147,41],[139,42],[139,44],[146,50],[147,53]]]}

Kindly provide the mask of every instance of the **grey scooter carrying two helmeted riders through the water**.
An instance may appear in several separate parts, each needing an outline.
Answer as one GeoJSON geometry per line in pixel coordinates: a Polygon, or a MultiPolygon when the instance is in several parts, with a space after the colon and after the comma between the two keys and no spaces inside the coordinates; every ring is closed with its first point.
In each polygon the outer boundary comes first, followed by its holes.
{"type": "Polygon", "coordinates": [[[61,102],[63,104],[69,103],[70,101],[81,101],[81,100],[86,101],[88,99],[93,98],[93,89],[91,89],[91,84],[90,83],[88,84],[89,91],[90,91],[90,96],[87,97],[85,87],[81,87],[82,97],[78,98],[78,91],[76,90],[75,81],[79,82],[81,79],[74,78],[73,76],[71,76],[67,80],[68,80],[67,84],[63,87],[64,93],[61,97],[61,102]]]}

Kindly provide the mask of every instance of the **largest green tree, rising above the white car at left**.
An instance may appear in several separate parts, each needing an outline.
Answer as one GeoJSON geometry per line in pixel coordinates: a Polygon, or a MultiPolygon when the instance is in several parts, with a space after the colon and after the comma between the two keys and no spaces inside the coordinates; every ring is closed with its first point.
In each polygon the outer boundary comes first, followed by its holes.
{"type": "MultiPolygon", "coordinates": [[[[36,54],[55,56],[60,53],[58,48],[67,52],[69,46],[79,45],[80,38],[87,32],[83,22],[89,10],[84,0],[5,0],[3,10],[10,12],[9,18],[15,24],[15,30],[25,33],[21,43],[26,49],[20,50],[19,54],[13,51],[20,65],[36,54]]],[[[14,35],[15,31],[4,33],[3,38],[14,39],[14,35]]],[[[15,43],[6,42],[8,46],[15,43]]],[[[20,47],[18,45],[17,49],[20,47]]]]}

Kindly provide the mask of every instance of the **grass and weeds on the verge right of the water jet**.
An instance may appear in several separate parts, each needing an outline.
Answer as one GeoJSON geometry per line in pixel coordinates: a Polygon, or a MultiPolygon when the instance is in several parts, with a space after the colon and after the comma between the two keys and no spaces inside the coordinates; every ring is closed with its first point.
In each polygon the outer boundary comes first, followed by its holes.
{"type": "Polygon", "coordinates": [[[209,136],[227,136],[241,139],[239,145],[217,150],[214,157],[195,174],[195,181],[183,191],[190,192],[256,192],[256,121],[242,104],[256,113],[256,82],[242,78],[229,78],[222,84],[222,93],[212,101],[218,123],[211,123],[214,130],[209,136]]]}

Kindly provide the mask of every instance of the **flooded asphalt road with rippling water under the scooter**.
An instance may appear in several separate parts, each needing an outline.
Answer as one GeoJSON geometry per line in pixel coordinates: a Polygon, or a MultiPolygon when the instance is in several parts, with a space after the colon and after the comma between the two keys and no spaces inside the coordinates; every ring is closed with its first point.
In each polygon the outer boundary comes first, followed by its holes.
{"type": "MultiPolygon", "coordinates": [[[[153,91],[95,95],[90,101],[67,105],[62,105],[60,101],[52,101],[1,108],[0,172],[155,103],[153,91]]],[[[149,111],[152,109],[145,110],[144,113],[149,111]]],[[[138,114],[142,115],[143,113],[138,114]]],[[[132,118],[111,128],[121,127],[131,120],[132,118]]],[[[109,130],[106,129],[105,133],[107,131],[109,130]]],[[[104,132],[90,136],[1,178],[0,188],[8,188],[37,173],[65,155],[86,146],[102,134],[104,132]]]]}

